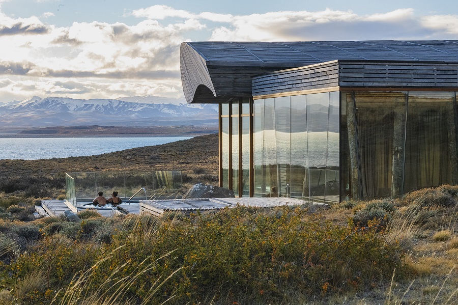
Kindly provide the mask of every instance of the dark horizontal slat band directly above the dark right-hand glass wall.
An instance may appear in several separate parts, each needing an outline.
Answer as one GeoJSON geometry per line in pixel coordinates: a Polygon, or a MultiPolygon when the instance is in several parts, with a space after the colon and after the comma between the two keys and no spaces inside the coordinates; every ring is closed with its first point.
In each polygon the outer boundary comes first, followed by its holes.
{"type": "Polygon", "coordinates": [[[339,61],[340,87],[456,88],[456,63],[339,61]]]}

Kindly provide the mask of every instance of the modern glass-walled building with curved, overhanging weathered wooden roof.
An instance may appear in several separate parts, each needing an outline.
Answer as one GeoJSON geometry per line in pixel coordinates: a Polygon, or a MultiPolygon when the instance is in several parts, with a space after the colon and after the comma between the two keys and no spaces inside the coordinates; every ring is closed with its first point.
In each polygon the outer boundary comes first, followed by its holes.
{"type": "Polygon", "coordinates": [[[458,41],[185,42],[240,197],[399,197],[458,183],[458,41]]]}

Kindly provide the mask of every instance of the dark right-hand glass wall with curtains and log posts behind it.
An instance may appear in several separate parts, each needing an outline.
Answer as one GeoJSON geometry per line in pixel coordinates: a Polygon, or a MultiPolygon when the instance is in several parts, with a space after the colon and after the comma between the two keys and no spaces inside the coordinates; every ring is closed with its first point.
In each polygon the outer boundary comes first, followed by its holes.
{"type": "Polygon", "coordinates": [[[342,92],[342,200],[456,184],[455,92],[342,92]]]}

